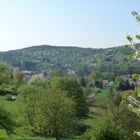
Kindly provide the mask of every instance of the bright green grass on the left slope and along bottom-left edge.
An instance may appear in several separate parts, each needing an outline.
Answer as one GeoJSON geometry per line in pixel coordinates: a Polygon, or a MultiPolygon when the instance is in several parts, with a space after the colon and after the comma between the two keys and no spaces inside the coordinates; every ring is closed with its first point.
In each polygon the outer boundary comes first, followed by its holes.
{"type": "MultiPolygon", "coordinates": [[[[19,122],[20,120],[24,119],[22,114],[22,102],[20,99],[15,101],[6,100],[3,96],[0,96],[0,106],[4,108],[6,111],[10,112],[12,118],[19,122]]],[[[6,131],[0,129],[0,140],[54,140],[54,138],[48,137],[40,137],[40,136],[29,136],[29,135],[7,135],[6,131]]]]}

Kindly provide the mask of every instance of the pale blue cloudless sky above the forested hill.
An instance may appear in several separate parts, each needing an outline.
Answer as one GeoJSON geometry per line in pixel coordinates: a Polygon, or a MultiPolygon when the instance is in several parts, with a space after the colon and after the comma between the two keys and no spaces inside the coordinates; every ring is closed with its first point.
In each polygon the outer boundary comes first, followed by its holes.
{"type": "Polygon", "coordinates": [[[140,0],[0,0],[0,51],[34,45],[108,48],[140,32],[140,0]]]}

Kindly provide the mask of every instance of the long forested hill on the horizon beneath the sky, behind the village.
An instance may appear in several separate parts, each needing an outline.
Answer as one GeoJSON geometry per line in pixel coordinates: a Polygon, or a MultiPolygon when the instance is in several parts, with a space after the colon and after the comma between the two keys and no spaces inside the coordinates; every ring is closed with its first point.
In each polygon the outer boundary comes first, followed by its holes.
{"type": "Polygon", "coordinates": [[[92,49],[78,47],[61,47],[40,45],[20,50],[0,52],[0,60],[6,61],[22,70],[83,75],[93,70],[130,74],[140,72],[140,66],[128,59],[131,49],[114,47],[92,49]]]}

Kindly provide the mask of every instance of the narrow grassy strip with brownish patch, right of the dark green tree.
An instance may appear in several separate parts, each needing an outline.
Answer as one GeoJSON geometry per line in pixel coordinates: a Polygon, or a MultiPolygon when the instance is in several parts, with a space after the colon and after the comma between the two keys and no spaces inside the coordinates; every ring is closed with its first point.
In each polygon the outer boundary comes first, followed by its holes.
{"type": "Polygon", "coordinates": [[[92,135],[93,140],[95,130],[106,120],[106,111],[104,106],[107,101],[108,91],[108,88],[103,88],[96,94],[95,99],[90,102],[90,112],[88,117],[82,120],[84,124],[88,125],[90,128],[85,133],[89,133],[88,131],[91,130],[90,135],[92,135]]]}

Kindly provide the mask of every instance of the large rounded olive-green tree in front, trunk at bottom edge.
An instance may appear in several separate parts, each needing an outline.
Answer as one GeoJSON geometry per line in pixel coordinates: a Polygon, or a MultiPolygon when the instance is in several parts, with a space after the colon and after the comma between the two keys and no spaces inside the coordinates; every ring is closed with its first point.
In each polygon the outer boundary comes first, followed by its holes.
{"type": "Polygon", "coordinates": [[[51,133],[56,140],[71,136],[76,122],[74,106],[64,91],[48,90],[36,103],[34,131],[43,135],[51,133]]]}

